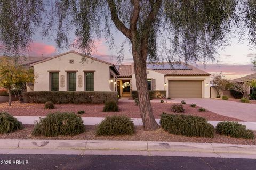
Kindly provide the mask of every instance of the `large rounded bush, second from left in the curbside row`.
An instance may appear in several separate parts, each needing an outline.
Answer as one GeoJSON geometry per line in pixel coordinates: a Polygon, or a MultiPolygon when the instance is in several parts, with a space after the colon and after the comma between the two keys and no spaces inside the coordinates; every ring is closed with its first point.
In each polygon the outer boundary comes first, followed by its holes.
{"type": "Polygon", "coordinates": [[[85,132],[83,120],[74,112],[54,112],[36,122],[33,135],[56,137],[58,135],[77,135],[85,132]]]}

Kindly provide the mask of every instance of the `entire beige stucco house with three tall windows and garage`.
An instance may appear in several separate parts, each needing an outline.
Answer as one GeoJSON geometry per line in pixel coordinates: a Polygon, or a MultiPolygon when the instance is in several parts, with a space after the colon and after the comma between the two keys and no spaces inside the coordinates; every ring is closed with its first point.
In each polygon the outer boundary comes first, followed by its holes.
{"type": "MultiPolygon", "coordinates": [[[[117,65],[70,51],[33,62],[34,91],[136,91],[134,64],[117,65]]],[[[210,74],[185,63],[148,63],[149,90],[165,90],[171,98],[210,98],[210,74]]]]}

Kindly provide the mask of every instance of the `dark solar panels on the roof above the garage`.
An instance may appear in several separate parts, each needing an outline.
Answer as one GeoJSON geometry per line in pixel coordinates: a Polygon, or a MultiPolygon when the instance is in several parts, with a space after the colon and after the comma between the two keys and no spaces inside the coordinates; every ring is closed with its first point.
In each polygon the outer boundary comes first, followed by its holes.
{"type": "Polygon", "coordinates": [[[170,69],[170,70],[191,70],[187,65],[185,64],[169,64],[169,63],[162,63],[162,64],[155,64],[155,63],[148,63],[147,64],[148,69],[153,70],[160,70],[160,69],[170,69]]]}

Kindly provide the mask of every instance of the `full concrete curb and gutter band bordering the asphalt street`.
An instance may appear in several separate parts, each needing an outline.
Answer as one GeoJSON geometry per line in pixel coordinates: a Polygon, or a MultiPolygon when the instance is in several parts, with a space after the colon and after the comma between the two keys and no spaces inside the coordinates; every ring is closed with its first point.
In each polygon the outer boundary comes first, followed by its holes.
{"type": "Polygon", "coordinates": [[[256,159],[255,145],[220,143],[108,141],[108,140],[0,140],[0,154],[93,154],[194,155],[221,158],[256,159]],[[98,152],[97,152],[98,151],[98,152]],[[183,153],[183,154],[182,154],[183,153]]]}

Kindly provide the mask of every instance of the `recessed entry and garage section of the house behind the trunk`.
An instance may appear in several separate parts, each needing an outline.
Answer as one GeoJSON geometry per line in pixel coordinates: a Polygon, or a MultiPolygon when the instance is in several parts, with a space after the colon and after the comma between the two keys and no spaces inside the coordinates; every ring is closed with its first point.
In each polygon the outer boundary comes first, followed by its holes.
{"type": "MultiPolygon", "coordinates": [[[[121,97],[137,90],[134,66],[117,67],[117,89],[121,97]]],[[[170,98],[210,98],[210,74],[194,66],[180,64],[147,64],[149,90],[165,90],[170,98]]]]}

